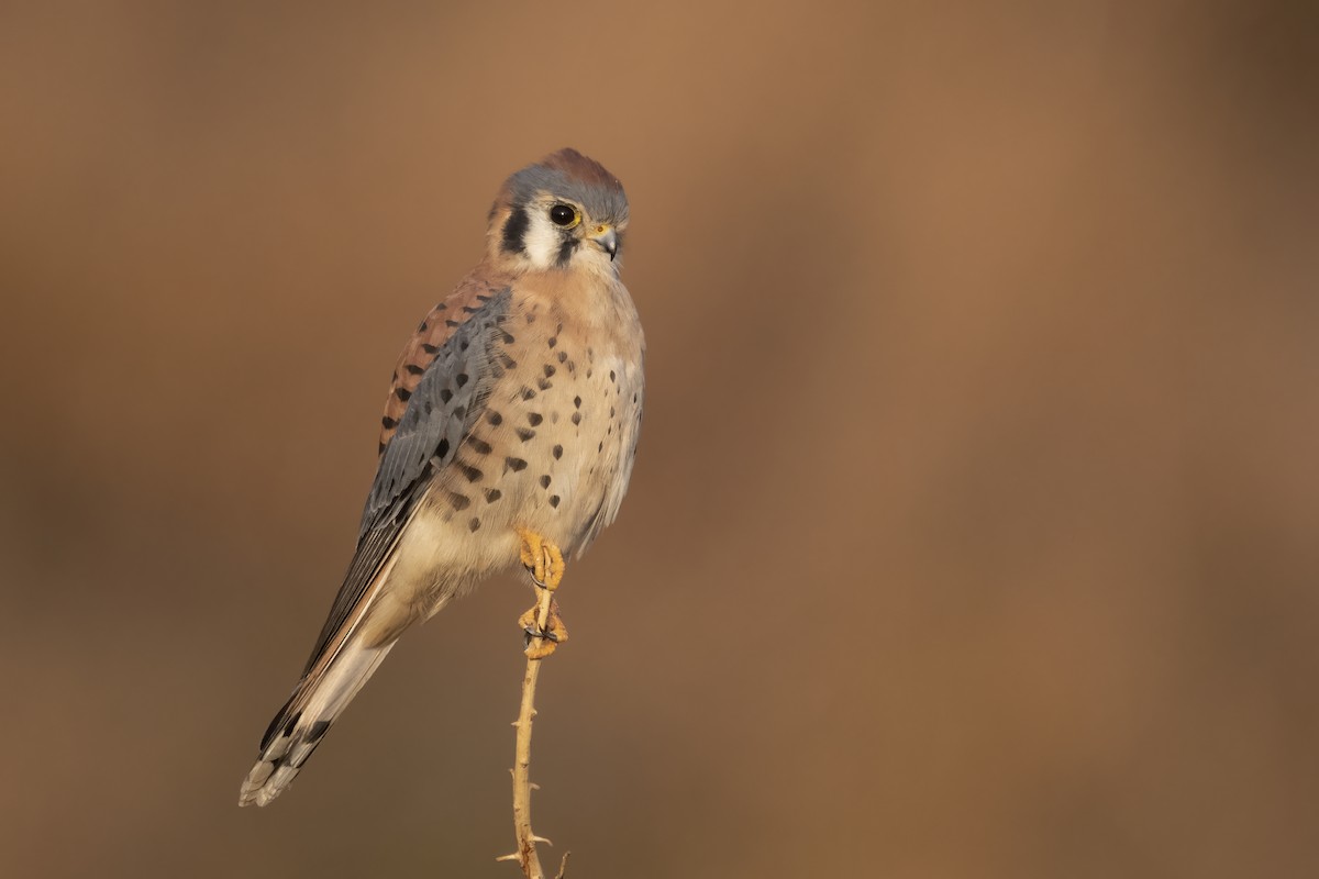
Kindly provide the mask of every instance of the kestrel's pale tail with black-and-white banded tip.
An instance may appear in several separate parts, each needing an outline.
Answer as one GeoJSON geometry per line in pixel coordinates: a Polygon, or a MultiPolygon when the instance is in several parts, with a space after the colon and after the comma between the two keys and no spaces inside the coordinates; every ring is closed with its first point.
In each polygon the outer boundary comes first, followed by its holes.
{"type": "Polygon", "coordinates": [[[350,637],[327,666],[307,669],[265,730],[261,756],[243,781],[239,805],[265,805],[289,787],[390,647],[393,642],[368,647],[359,634],[350,637]]]}

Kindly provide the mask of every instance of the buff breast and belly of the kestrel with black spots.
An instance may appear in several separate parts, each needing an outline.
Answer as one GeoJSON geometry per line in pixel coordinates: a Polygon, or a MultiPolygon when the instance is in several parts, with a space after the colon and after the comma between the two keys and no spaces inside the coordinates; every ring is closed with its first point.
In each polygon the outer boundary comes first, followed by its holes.
{"type": "Polygon", "coordinates": [[[503,546],[529,527],[571,552],[616,515],[640,430],[644,343],[627,290],[613,286],[624,302],[613,290],[514,295],[497,378],[433,493],[454,532],[503,546]]]}

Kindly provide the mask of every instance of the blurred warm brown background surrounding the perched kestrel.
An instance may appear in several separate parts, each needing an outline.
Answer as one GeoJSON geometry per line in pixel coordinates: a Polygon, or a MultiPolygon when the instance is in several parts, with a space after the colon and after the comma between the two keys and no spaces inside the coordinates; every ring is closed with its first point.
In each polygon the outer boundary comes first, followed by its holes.
{"type": "Polygon", "coordinates": [[[570,875],[1316,875],[1316,59],[1299,3],[4,4],[0,875],[517,875],[513,577],[235,801],[394,357],[563,145],[650,343],[542,677],[570,875]]]}

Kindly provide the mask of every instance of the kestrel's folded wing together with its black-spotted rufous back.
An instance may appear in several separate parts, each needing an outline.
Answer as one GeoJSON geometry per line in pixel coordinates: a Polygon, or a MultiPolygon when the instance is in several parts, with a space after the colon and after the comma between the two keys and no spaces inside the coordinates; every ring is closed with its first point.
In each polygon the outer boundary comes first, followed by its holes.
{"type": "Polygon", "coordinates": [[[468,278],[421,323],[394,370],[380,465],[361,511],[357,551],[330,609],[305,675],[360,622],[398,535],[431,474],[452,460],[504,373],[503,323],[512,290],[468,278]]]}

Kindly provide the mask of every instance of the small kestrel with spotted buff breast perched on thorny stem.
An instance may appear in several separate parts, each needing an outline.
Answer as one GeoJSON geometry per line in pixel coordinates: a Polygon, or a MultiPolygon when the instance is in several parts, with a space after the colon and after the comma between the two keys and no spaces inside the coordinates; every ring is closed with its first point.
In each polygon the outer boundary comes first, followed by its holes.
{"type": "MultiPolygon", "coordinates": [[[[575,149],[504,182],[484,257],[394,368],[356,551],[239,805],[289,787],[405,630],[517,565],[555,588],[617,517],[645,390],[627,227],[623,184],[575,149]]],[[[521,623],[533,658],[567,635],[521,623]]]]}

